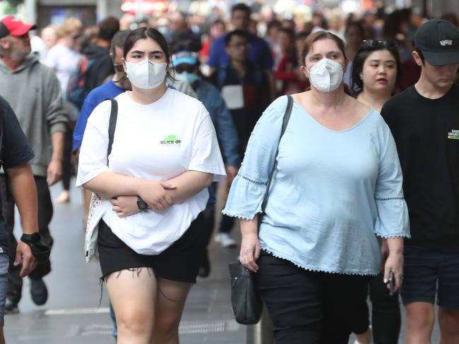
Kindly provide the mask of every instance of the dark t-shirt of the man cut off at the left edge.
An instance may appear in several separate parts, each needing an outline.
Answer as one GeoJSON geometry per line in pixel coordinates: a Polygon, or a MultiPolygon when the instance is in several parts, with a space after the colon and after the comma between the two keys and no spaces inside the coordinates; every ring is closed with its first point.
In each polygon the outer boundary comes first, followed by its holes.
{"type": "MultiPolygon", "coordinates": [[[[32,160],[34,154],[25,137],[23,130],[16,114],[11,109],[11,106],[6,100],[0,97],[0,121],[3,124],[0,126],[3,129],[1,144],[1,160],[2,166],[6,169],[20,166],[32,160]]],[[[3,214],[1,214],[1,199],[0,199],[0,247],[7,247],[6,231],[4,227],[3,214]]]]}

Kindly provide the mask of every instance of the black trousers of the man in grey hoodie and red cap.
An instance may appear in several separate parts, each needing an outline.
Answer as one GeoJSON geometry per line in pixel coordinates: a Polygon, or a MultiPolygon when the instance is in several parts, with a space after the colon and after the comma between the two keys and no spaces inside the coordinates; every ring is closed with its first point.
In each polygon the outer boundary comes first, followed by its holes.
{"type": "MultiPolygon", "coordinates": [[[[53,239],[49,233],[49,222],[51,222],[53,207],[51,195],[46,181],[46,177],[35,176],[35,184],[37,185],[37,198],[38,198],[38,231],[42,236],[42,240],[48,245],[52,246],[53,239]]],[[[5,221],[6,235],[8,236],[8,254],[10,257],[10,266],[8,269],[8,291],[7,297],[10,297],[13,302],[19,302],[22,296],[23,279],[20,278],[19,272],[21,266],[13,266],[14,259],[16,258],[16,246],[18,242],[13,235],[14,229],[14,200],[12,195],[8,195],[8,188],[6,185],[6,177],[0,175],[0,197],[1,197],[1,212],[5,221]]],[[[42,278],[49,274],[51,271],[51,264],[39,264],[29,274],[30,278],[42,278]]]]}

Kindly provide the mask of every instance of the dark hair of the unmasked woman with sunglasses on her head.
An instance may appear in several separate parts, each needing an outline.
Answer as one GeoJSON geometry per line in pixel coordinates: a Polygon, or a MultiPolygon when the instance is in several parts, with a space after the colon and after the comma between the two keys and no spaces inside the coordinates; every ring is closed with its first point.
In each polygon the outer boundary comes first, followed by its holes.
{"type": "Polygon", "coordinates": [[[364,82],[360,78],[360,74],[362,73],[362,70],[364,69],[364,63],[366,59],[368,58],[368,56],[370,56],[370,54],[373,51],[378,51],[378,50],[387,50],[392,54],[393,58],[395,59],[395,64],[397,66],[396,82],[400,81],[400,78],[402,76],[402,63],[400,62],[400,54],[398,54],[397,46],[394,45],[393,47],[386,47],[383,44],[376,44],[376,45],[363,44],[362,47],[360,47],[359,50],[357,51],[357,54],[354,57],[354,61],[352,62],[351,90],[354,90],[355,85],[357,85],[358,90],[363,89],[364,82]]]}

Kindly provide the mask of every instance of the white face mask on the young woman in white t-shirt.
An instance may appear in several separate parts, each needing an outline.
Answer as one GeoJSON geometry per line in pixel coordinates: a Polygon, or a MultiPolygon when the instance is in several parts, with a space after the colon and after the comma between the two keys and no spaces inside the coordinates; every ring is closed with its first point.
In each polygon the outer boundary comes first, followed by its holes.
{"type": "Polygon", "coordinates": [[[153,63],[149,60],[138,63],[126,62],[126,74],[131,84],[145,90],[161,85],[166,78],[166,68],[165,62],[153,63]]]}

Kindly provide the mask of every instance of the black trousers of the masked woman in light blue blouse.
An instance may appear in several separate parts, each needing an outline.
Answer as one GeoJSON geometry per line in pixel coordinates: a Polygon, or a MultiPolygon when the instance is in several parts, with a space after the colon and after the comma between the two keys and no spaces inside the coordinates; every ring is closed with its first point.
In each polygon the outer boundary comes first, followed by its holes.
{"type": "Polygon", "coordinates": [[[368,276],[307,271],[266,252],[257,263],[276,344],[347,344],[368,276]]]}

